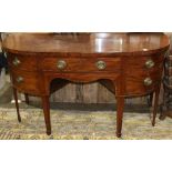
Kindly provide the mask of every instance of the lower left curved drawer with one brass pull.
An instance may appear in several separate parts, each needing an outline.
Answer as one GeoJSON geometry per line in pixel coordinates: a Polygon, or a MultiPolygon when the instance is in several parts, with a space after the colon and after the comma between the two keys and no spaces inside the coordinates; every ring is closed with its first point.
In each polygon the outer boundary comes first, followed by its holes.
{"type": "Polygon", "coordinates": [[[12,84],[19,91],[36,93],[36,94],[40,93],[39,75],[37,72],[11,70],[10,73],[11,73],[12,84]]]}

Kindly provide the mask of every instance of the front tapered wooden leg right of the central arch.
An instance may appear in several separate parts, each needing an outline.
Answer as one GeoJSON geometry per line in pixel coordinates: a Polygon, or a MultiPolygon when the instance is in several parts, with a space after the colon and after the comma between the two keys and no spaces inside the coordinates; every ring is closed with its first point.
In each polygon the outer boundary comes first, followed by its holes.
{"type": "Polygon", "coordinates": [[[117,98],[117,136],[121,138],[122,119],[123,119],[124,98],[117,98]]]}

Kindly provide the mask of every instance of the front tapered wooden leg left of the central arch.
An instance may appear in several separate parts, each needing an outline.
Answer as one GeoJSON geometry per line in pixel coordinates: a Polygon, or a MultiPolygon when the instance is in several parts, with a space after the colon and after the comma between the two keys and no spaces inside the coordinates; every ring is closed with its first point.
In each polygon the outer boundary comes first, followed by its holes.
{"type": "Polygon", "coordinates": [[[47,134],[50,135],[51,134],[51,121],[50,121],[50,102],[49,102],[48,95],[42,97],[42,108],[43,108],[43,113],[44,113],[47,134]]]}

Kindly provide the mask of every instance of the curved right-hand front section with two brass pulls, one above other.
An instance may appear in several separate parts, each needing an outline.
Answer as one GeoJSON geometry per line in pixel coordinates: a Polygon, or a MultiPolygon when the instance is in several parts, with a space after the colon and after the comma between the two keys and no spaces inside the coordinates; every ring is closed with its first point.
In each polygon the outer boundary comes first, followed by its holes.
{"type": "Polygon", "coordinates": [[[125,94],[145,94],[154,90],[162,80],[163,57],[127,59],[125,94]]]}

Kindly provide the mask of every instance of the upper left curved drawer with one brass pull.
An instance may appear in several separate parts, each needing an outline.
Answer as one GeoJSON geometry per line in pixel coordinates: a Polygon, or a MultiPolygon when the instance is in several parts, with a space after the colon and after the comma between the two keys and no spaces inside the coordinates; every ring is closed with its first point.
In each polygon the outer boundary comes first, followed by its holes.
{"type": "Polygon", "coordinates": [[[9,54],[8,63],[14,70],[37,71],[36,57],[9,54]]]}

